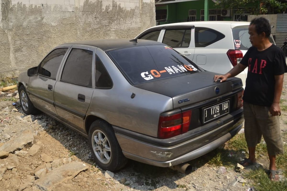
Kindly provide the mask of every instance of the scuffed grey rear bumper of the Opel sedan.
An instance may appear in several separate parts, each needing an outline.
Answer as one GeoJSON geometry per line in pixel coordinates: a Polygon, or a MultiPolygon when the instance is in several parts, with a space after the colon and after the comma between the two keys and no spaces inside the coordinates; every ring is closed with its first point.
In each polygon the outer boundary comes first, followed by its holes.
{"type": "MultiPolygon", "coordinates": [[[[165,146],[154,144],[156,142],[153,141],[142,141],[120,133],[118,131],[119,127],[114,127],[114,129],[125,157],[154,166],[169,167],[200,157],[236,135],[243,125],[243,109],[230,113],[226,117],[232,117],[233,119],[207,133],[197,137],[193,136],[193,138],[188,140],[185,139],[181,143],[176,142],[176,145],[169,145],[164,139],[158,140],[165,142],[162,144],[165,146]],[[166,146],[167,144],[168,146],[166,146]]],[[[218,123],[218,121],[214,123],[218,123]]],[[[187,136],[191,135],[187,134],[187,136]]]]}

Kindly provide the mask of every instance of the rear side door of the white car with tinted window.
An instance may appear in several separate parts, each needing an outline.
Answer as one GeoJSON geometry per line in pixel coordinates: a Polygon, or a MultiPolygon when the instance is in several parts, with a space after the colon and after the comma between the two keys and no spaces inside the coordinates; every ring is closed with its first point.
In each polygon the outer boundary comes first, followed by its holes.
{"type": "Polygon", "coordinates": [[[193,60],[194,26],[167,26],[162,31],[160,42],[193,60]]]}

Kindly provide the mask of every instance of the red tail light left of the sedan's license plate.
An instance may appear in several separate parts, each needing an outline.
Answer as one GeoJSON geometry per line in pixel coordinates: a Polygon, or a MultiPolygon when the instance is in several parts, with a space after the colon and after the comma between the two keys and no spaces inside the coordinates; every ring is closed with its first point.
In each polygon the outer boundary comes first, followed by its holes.
{"type": "Polygon", "coordinates": [[[191,110],[169,116],[160,116],[158,138],[166,139],[185,133],[189,129],[191,110]]]}

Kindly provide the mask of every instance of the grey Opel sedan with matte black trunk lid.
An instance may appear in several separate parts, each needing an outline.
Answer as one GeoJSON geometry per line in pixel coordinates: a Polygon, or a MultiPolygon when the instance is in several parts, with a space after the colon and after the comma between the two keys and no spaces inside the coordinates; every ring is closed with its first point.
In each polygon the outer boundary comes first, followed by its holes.
{"type": "Polygon", "coordinates": [[[98,166],[127,159],[170,167],[228,141],[242,127],[242,81],[214,82],[169,46],[90,40],[54,48],[18,80],[24,113],[40,111],[88,138],[98,166]]]}

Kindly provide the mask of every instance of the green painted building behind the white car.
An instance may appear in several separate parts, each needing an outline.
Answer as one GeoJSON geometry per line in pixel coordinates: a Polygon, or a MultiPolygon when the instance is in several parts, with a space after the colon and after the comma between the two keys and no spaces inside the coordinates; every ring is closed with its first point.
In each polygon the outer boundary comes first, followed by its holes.
{"type": "Polygon", "coordinates": [[[158,24],[186,21],[247,21],[248,11],[238,14],[238,10],[219,9],[213,0],[159,0],[156,1],[156,21],[158,24]],[[205,7],[208,10],[204,17],[205,7]]]}

